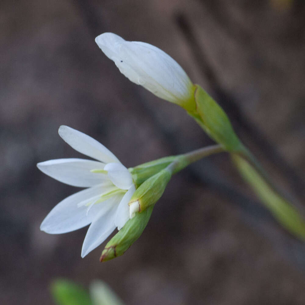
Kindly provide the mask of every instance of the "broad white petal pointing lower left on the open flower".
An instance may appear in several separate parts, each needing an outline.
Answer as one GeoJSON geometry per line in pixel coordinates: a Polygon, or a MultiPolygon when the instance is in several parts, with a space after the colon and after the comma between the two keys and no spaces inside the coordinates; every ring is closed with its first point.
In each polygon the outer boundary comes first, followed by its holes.
{"type": "Polygon", "coordinates": [[[90,224],[99,210],[99,204],[92,206],[88,215],[86,215],[87,206],[78,207],[77,204],[85,199],[94,198],[103,189],[103,185],[97,185],[63,199],[48,213],[42,221],[40,229],[50,234],[61,234],[90,224]]]}

